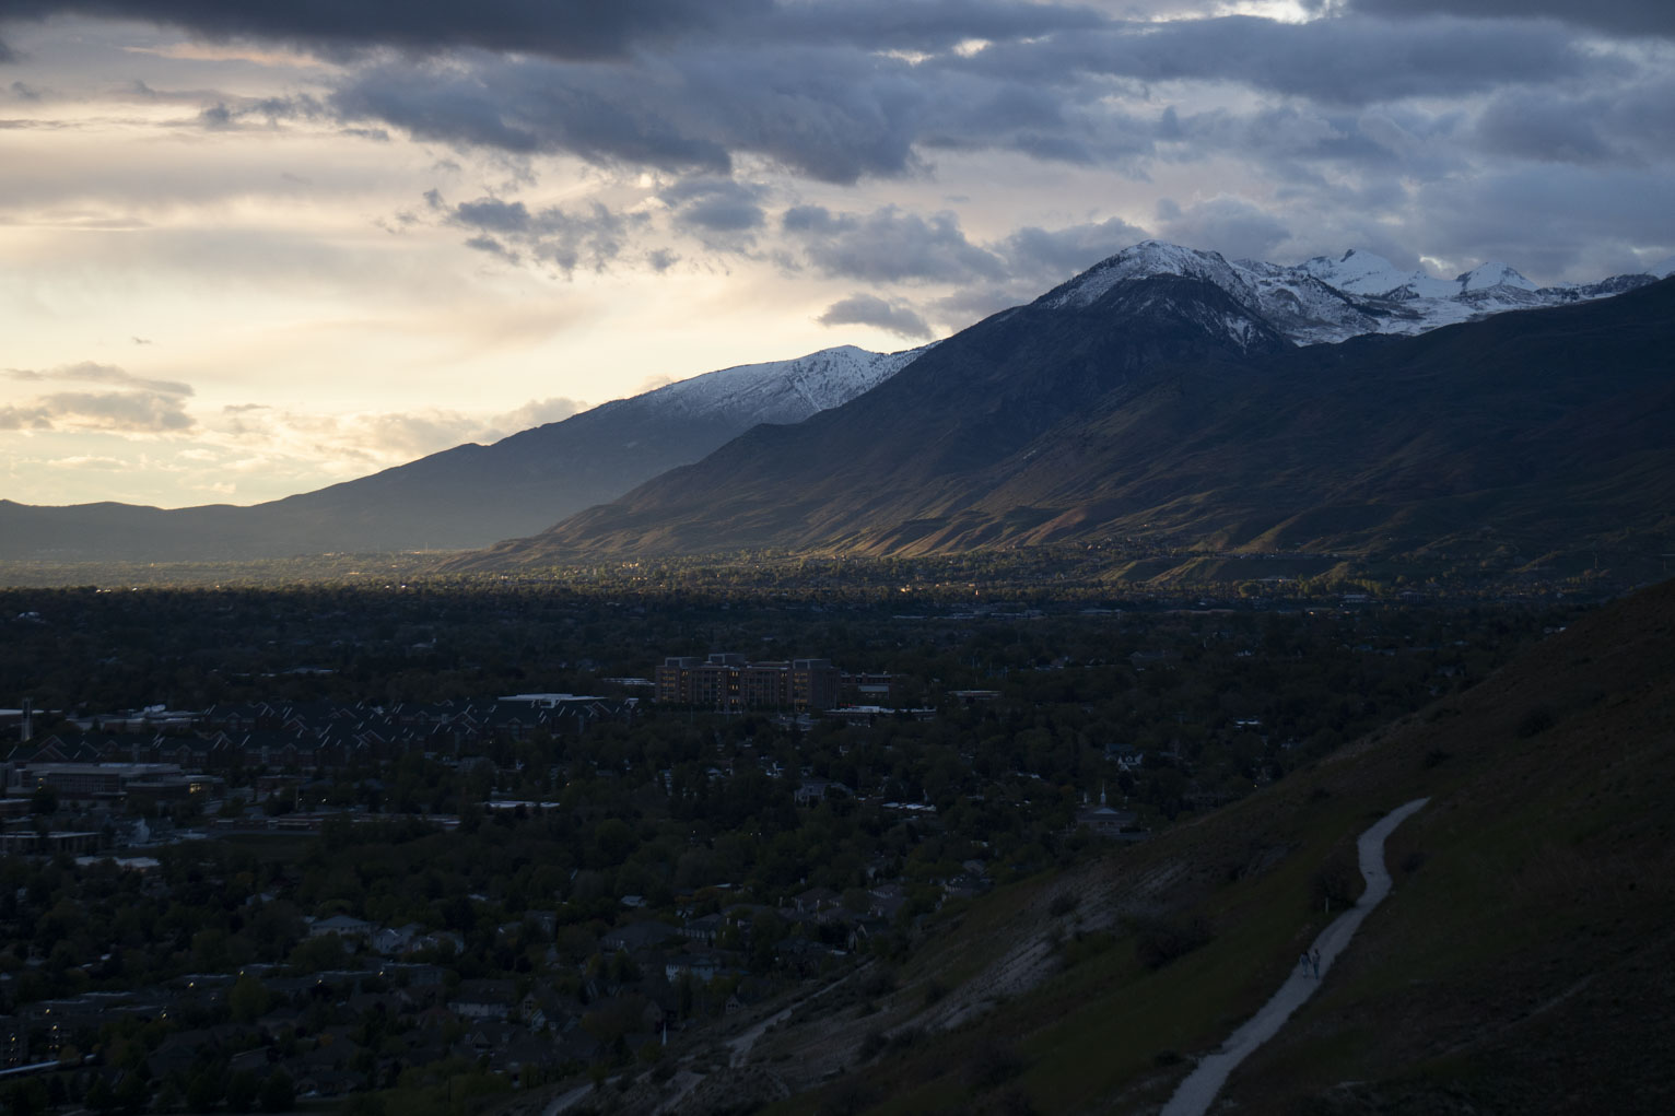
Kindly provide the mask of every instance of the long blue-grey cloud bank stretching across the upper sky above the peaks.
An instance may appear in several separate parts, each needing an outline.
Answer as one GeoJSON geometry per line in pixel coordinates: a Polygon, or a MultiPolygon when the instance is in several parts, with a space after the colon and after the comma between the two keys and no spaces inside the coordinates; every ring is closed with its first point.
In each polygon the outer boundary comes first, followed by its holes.
{"type": "Polygon", "coordinates": [[[1353,126],[1355,112],[1633,75],[1631,64],[1583,50],[1559,25],[1494,20],[1106,23],[920,64],[843,42],[769,39],[586,65],[484,54],[390,60],[350,72],[330,107],[345,124],[397,126],[459,147],[568,152],[675,174],[727,176],[739,158],[757,156],[797,176],[853,184],[923,173],[936,151],[1013,151],[1144,178],[1159,144],[1176,146],[1171,158],[1196,158],[1206,139],[1392,164],[1389,146],[1353,126]],[[1234,127],[1219,134],[1204,117],[1194,129],[1189,119],[1134,116],[1112,102],[1112,94],[1144,97],[1161,80],[1236,82],[1296,101],[1266,109],[1281,131],[1240,132],[1251,121],[1234,114],[1234,127]],[[1313,126],[1322,111],[1340,119],[1305,134],[1298,126],[1313,126]]]}

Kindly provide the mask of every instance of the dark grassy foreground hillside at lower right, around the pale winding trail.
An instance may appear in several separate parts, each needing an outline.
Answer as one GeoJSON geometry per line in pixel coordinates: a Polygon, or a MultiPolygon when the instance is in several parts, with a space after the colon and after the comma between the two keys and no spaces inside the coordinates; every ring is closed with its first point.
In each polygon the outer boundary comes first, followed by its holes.
{"type": "Polygon", "coordinates": [[[1461,1098],[1477,1111],[1675,1111],[1655,1054],[1675,1049],[1672,665],[1675,583],[1224,811],[973,905],[879,1014],[829,1017],[819,1042],[774,1036],[787,1074],[821,1064],[816,1049],[853,1069],[871,1027],[936,1032],[946,1002],[983,1002],[1008,962],[1060,938],[1045,980],[786,1111],[1154,1111],[1186,1072],[1176,1052],[1226,1037],[1323,925],[1320,866],[1420,794],[1432,804],[1390,843],[1392,900],[1234,1074],[1240,1111],[1447,1111],[1461,1098]],[[1050,912],[1060,891],[1079,896],[1067,915],[1050,912]],[[1203,918],[1213,938],[1149,970],[1136,917],[1203,918]],[[958,987],[925,1007],[933,979],[958,987]],[[1015,1072],[988,1072],[1007,1062],[1015,1072]]]}

